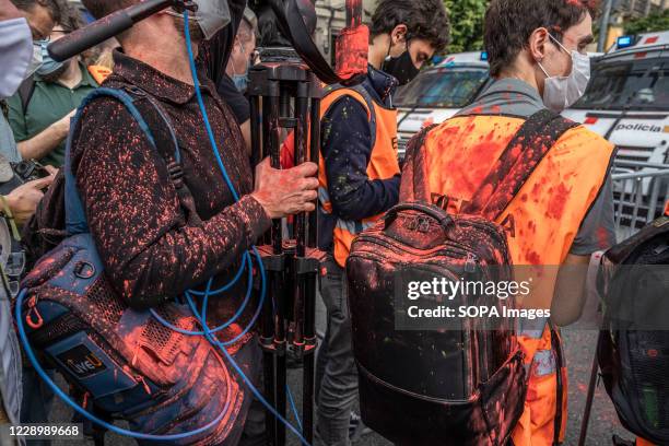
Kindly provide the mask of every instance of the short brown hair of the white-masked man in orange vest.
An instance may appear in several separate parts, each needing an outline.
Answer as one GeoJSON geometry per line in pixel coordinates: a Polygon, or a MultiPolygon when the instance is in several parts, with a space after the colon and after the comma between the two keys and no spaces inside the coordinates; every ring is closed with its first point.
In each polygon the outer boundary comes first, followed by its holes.
{"type": "Polygon", "coordinates": [[[562,42],[564,32],[586,14],[595,17],[597,7],[597,0],[492,0],[483,33],[491,75],[498,75],[516,60],[535,30],[545,27],[562,42]]]}

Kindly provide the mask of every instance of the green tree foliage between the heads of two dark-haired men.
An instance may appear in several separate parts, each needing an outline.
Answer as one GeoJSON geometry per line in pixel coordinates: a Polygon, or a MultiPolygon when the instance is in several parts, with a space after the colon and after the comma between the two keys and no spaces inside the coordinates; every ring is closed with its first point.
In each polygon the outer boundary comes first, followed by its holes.
{"type": "Polygon", "coordinates": [[[489,0],[444,0],[450,20],[448,52],[483,49],[483,16],[489,0]]]}

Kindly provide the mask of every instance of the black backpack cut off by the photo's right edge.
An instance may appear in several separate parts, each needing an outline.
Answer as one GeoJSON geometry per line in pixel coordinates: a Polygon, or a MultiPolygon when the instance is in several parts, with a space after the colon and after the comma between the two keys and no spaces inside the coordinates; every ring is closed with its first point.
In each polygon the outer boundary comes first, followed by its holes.
{"type": "Polygon", "coordinates": [[[611,248],[602,263],[605,387],[625,429],[669,444],[669,216],[611,248]]]}

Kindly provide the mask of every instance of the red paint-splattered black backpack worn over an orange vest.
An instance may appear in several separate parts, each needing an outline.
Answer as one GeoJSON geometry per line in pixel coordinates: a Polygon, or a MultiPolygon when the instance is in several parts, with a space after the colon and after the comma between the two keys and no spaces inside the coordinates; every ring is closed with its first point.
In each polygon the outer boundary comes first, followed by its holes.
{"type": "MultiPolygon", "coordinates": [[[[409,143],[401,196],[376,226],[354,242],[347,262],[353,348],[363,421],[400,445],[506,445],[524,410],[524,355],[515,322],[456,317],[427,327],[420,308],[513,307],[484,293],[451,301],[410,297],[411,283],[433,279],[512,281],[505,230],[494,223],[555,141],[575,124],[542,110],[512,139],[484,181],[484,202],[457,215],[421,192],[421,149],[433,127],[409,143]],[[418,324],[418,325],[416,325],[418,324]]],[[[448,175],[444,172],[443,175],[448,175]]],[[[415,290],[413,290],[415,291],[415,290]]]]}

